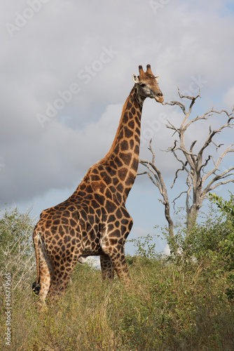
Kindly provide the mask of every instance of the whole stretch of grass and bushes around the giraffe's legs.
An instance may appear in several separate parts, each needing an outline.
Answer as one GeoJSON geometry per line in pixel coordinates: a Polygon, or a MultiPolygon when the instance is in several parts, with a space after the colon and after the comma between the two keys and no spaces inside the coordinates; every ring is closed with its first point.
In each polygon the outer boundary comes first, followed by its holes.
{"type": "Polygon", "coordinates": [[[77,264],[65,295],[39,313],[31,289],[34,223],[6,211],[0,350],[234,350],[234,216],[211,213],[189,236],[178,234],[179,256],[158,255],[149,235],[135,240],[128,286],[118,278],[103,283],[99,270],[77,264]]]}

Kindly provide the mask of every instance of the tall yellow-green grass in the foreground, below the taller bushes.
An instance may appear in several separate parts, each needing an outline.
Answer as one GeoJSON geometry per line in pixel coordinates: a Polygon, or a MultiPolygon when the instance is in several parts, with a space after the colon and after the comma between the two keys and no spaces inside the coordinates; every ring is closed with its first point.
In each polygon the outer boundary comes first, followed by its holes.
{"type": "MultiPolygon", "coordinates": [[[[15,265],[7,267],[13,277],[15,265]]],[[[11,347],[4,339],[4,284],[0,289],[0,350],[234,350],[234,303],[226,294],[230,272],[214,254],[196,260],[133,256],[128,267],[132,279],[123,286],[118,279],[103,283],[99,270],[76,265],[65,295],[40,313],[31,291],[36,267],[23,270],[27,274],[21,280],[16,274],[11,347]]]]}

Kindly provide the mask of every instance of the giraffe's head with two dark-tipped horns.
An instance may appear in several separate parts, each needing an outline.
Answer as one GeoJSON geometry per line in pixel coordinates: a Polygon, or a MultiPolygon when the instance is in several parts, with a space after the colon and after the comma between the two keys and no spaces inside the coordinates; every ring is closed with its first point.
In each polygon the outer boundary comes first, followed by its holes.
{"type": "Polygon", "coordinates": [[[144,72],[142,66],[139,66],[139,76],[133,74],[132,78],[137,86],[139,97],[144,101],[145,98],[154,98],[158,102],[163,102],[163,93],[158,86],[158,78],[153,75],[151,65],[146,66],[144,72]]]}

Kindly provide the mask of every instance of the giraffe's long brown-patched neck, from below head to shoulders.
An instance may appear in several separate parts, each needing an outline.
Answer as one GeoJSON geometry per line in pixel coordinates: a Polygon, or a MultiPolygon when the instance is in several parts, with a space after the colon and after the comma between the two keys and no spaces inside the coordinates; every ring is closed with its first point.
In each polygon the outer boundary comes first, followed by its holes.
{"type": "Polygon", "coordinates": [[[111,149],[100,161],[110,173],[113,184],[122,183],[125,199],[137,176],[143,102],[134,86],[123,105],[121,121],[111,149]]]}

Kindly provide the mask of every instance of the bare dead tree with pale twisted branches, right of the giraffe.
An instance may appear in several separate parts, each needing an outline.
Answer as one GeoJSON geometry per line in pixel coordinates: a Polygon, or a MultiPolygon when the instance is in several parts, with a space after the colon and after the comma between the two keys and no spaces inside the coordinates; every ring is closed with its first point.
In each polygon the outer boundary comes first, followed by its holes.
{"type": "MultiPolygon", "coordinates": [[[[226,110],[216,111],[214,110],[214,108],[212,108],[208,112],[205,112],[205,114],[202,114],[202,116],[197,115],[197,117],[190,119],[189,117],[191,117],[191,112],[192,112],[192,108],[195,103],[195,100],[197,100],[197,98],[200,98],[200,92],[197,96],[186,96],[186,95],[181,95],[178,88],[178,93],[179,93],[179,98],[191,100],[191,103],[188,107],[188,111],[186,111],[186,106],[179,101],[165,102],[164,105],[179,106],[184,114],[184,118],[181,121],[181,125],[179,127],[174,126],[174,124],[172,124],[167,119],[168,124],[166,124],[166,127],[172,129],[172,131],[174,131],[172,136],[178,135],[179,140],[175,139],[174,142],[172,143],[172,146],[165,151],[172,152],[174,157],[181,164],[181,168],[178,168],[177,171],[175,172],[172,187],[174,186],[174,183],[178,178],[179,171],[186,171],[187,173],[187,178],[186,178],[187,190],[184,192],[181,192],[181,194],[179,194],[179,196],[176,199],[179,199],[179,197],[181,197],[182,194],[186,193],[186,226],[187,226],[187,233],[189,233],[189,230],[191,229],[191,227],[193,227],[193,225],[195,224],[198,218],[198,212],[202,206],[202,203],[205,199],[206,194],[221,185],[225,185],[230,182],[234,183],[234,178],[233,178],[234,166],[231,166],[225,171],[220,171],[219,169],[219,166],[221,165],[221,161],[223,161],[223,158],[226,156],[226,154],[230,152],[234,152],[234,148],[233,148],[234,144],[231,144],[228,147],[226,147],[226,150],[224,150],[221,153],[218,159],[215,159],[214,156],[212,156],[211,154],[205,157],[205,151],[207,150],[207,147],[213,145],[216,147],[216,151],[217,151],[223,146],[223,144],[217,145],[214,141],[214,137],[217,134],[221,133],[223,129],[233,127],[234,108],[230,114],[226,110]],[[198,150],[197,154],[195,154],[193,148],[197,143],[197,140],[193,140],[191,145],[189,145],[189,147],[186,147],[186,143],[185,143],[186,131],[188,127],[194,124],[195,122],[200,121],[202,119],[207,120],[210,117],[212,117],[213,114],[223,114],[224,117],[226,117],[226,123],[224,123],[219,129],[216,129],[216,130],[212,129],[212,127],[209,126],[209,133],[207,135],[207,138],[203,143],[203,145],[200,147],[200,150],[198,150]],[[182,157],[179,157],[179,153],[182,155],[182,157]]],[[[146,168],[148,168],[148,171],[144,173],[148,174],[153,184],[156,185],[160,190],[160,194],[163,196],[163,199],[164,199],[163,204],[165,204],[165,216],[166,218],[170,218],[170,216],[168,217],[168,214],[166,214],[166,213],[170,213],[170,204],[167,197],[167,190],[165,189],[165,183],[163,182],[161,173],[156,167],[155,154],[151,148],[151,143],[149,145],[149,150],[151,150],[151,153],[153,154],[152,161],[150,162],[146,160],[140,160],[140,163],[143,166],[146,166],[146,168]],[[151,176],[151,173],[155,178],[154,180],[151,176]]],[[[144,174],[144,173],[141,173],[141,174],[144,174]]],[[[174,201],[176,199],[174,199],[174,201]]],[[[170,231],[173,234],[171,229],[170,231]]]]}

